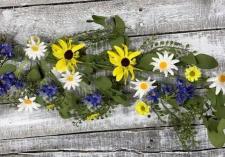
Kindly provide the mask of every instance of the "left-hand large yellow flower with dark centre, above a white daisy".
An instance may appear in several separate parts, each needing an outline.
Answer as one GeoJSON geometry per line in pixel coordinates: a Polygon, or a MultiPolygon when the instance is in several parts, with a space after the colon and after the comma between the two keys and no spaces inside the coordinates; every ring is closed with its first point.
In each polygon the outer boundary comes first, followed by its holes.
{"type": "Polygon", "coordinates": [[[75,66],[77,64],[77,58],[79,58],[79,51],[81,48],[85,47],[84,43],[78,45],[73,45],[72,40],[69,39],[68,42],[59,39],[58,45],[52,44],[53,55],[59,59],[56,63],[56,70],[59,72],[64,72],[70,70],[75,71],[75,66]]]}

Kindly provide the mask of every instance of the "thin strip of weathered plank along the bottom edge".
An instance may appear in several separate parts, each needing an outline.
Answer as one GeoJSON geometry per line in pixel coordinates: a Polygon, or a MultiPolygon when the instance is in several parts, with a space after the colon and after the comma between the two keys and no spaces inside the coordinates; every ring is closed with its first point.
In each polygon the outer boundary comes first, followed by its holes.
{"type": "Polygon", "coordinates": [[[224,157],[225,149],[211,149],[194,152],[157,152],[139,153],[131,151],[116,152],[43,152],[43,153],[19,153],[17,155],[3,155],[11,157],[224,157]]]}

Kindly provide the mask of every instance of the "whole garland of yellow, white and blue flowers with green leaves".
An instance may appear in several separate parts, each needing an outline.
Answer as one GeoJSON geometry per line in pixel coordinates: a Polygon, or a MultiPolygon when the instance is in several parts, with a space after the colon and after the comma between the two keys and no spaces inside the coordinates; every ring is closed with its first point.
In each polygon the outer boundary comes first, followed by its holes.
{"type": "Polygon", "coordinates": [[[119,16],[92,18],[87,22],[104,29],[50,43],[31,36],[24,47],[1,35],[0,101],[18,111],[56,109],[79,122],[107,117],[118,104],[133,105],[141,116],[154,111],[163,122],[168,117],[185,148],[196,143],[197,119],[214,146],[224,145],[225,72],[205,75],[218,66],[213,57],[154,37],[129,49],[119,16]],[[111,49],[93,53],[106,44],[111,49]]]}

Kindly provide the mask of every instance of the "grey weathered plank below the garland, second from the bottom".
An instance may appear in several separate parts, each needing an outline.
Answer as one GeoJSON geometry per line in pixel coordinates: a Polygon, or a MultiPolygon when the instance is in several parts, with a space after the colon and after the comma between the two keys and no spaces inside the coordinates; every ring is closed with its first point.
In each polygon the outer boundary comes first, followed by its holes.
{"type": "MultiPolygon", "coordinates": [[[[208,142],[205,127],[197,126],[196,130],[199,144],[193,150],[213,148],[208,142]]],[[[157,153],[179,151],[182,147],[170,127],[0,140],[0,154],[63,150],[157,153]]]]}

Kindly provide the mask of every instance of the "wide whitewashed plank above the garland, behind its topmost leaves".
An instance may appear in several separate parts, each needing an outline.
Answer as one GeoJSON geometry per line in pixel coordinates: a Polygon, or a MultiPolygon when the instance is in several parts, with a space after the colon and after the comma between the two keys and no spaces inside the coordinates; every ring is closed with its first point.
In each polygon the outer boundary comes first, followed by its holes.
{"type": "Polygon", "coordinates": [[[225,0],[113,0],[0,10],[0,32],[25,43],[37,34],[56,38],[99,28],[91,15],[118,14],[130,35],[225,28],[225,0]]]}

